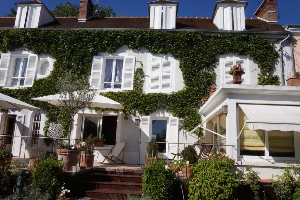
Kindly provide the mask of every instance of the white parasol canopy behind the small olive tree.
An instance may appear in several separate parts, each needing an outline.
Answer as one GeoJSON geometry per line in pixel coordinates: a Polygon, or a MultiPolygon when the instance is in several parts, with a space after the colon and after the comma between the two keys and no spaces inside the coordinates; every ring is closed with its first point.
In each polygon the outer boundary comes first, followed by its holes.
{"type": "MultiPolygon", "coordinates": [[[[44,97],[33,98],[32,100],[44,101],[55,106],[61,106],[61,94],[53,94],[44,97]]],[[[96,94],[94,100],[91,103],[91,107],[122,109],[122,104],[100,94],[96,94]]]]}

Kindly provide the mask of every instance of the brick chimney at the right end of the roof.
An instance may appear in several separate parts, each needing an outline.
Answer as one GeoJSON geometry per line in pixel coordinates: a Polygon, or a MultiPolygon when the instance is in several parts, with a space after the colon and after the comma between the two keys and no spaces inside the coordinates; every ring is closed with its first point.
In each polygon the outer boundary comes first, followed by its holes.
{"type": "Polygon", "coordinates": [[[276,0],[263,0],[254,16],[269,23],[277,23],[277,14],[279,14],[279,10],[277,10],[276,0]]]}

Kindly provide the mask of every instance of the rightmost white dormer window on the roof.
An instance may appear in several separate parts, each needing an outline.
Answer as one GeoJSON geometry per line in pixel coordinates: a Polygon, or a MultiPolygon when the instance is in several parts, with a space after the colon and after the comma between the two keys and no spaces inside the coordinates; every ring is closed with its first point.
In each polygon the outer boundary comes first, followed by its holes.
{"type": "Polygon", "coordinates": [[[245,28],[245,7],[247,1],[217,1],[212,22],[220,30],[243,31],[245,28]]]}

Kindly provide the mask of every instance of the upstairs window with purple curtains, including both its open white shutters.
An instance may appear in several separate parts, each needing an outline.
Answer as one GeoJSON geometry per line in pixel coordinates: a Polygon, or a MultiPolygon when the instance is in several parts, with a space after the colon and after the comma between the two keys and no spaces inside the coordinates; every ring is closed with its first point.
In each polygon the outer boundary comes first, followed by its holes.
{"type": "Polygon", "coordinates": [[[132,90],[134,56],[94,56],[90,85],[102,90],[132,90]]]}

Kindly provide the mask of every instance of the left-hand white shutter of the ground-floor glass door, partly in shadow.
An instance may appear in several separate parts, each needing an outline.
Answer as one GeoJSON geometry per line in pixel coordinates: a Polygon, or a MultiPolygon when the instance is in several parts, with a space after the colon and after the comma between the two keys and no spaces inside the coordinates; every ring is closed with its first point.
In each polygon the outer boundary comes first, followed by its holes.
{"type": "Polygon", "coordinates": [[[141,119],[141,137],[140,137],[140,165],[145,164],[146,142],[150,141],[150,117],[142,116],[141,119]]]}

